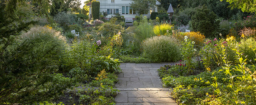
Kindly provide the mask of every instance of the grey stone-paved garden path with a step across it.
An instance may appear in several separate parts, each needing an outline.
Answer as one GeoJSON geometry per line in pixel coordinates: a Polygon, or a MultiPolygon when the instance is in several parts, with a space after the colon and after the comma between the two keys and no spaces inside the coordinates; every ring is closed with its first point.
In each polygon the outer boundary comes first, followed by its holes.
{"type": "Polygon", "coordinates": [[[122,63],[122,73],[116,84],[119,94],[117,105],[177,105],[169,97],[169,88],[163,88],[158,71],[161,66],[171,63],[122,63]]]}

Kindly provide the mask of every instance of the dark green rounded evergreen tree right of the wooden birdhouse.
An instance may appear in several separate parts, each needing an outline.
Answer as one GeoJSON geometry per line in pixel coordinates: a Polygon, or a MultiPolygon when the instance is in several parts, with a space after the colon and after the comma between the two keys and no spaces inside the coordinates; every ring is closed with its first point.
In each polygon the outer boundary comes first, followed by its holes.
{"type": "Polygon", "coordinates": [[[206,37],[210,37],[219,27],[219,21],[215,21],[216,18],[217,15],[205,6],[197,9],[191,18],[193,31],[199,31],[206,37]]]}

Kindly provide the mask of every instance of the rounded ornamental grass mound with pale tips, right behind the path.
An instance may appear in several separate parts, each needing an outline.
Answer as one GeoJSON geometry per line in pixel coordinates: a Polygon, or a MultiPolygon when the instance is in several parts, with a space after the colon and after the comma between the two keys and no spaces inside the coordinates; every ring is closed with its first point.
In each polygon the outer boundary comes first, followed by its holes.
{"type": "Polygon", "coordinates": [[[147,38],[142,43],[143,56],[154,62],[174,62],[181,58],[177,40],[168,36],[147,38]]]}

